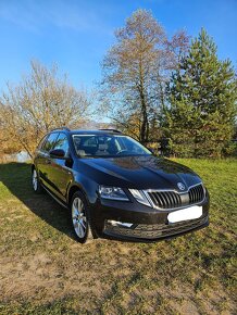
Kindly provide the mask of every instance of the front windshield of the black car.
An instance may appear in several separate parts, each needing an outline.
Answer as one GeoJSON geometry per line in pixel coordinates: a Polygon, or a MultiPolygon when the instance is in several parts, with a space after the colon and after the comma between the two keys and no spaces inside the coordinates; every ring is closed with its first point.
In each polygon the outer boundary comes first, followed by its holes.
{"type": "Polygon", "coordinates": [[[88,158],[149,155],[151,152],[127,136],[73,135],[76,153],[88,158]]]}

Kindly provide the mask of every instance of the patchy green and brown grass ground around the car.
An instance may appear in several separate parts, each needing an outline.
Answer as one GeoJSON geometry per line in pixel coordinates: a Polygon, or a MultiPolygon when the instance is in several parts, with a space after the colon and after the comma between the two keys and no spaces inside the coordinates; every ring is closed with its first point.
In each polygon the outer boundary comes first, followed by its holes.
{"type": "Polygon", "coordinates": [[[237,314],[237,161],[178,160],[211,194],[210,227],[173,240],[77,243],[70,219],[0,165],[0,314],[237,314]]]}

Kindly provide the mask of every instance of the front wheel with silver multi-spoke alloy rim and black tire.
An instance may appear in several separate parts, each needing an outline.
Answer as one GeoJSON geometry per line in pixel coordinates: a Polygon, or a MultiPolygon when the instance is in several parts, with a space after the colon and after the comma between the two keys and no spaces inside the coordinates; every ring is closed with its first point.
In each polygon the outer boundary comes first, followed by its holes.
{"type": "Polygon", "coordinates": [[[88,203],[85,196],[80,191],[76,191],[73,194],[70,209],[71,223],[76,240],[80,243],[86,243],[92,240],[93,235],[91,230],[88,203]]]}

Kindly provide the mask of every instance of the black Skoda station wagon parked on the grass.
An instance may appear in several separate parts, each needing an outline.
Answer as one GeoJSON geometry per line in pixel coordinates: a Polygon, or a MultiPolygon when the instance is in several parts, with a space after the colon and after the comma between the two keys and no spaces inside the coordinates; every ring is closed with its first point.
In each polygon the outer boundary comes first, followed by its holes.
{"type": "Polygon", "coordinates": [[[32,166],[35,192],[71,210],[79,242],[154,241],[209,224],[209,193],[186,166],[154,156],[117,130],[54,129],[32,166]]]}

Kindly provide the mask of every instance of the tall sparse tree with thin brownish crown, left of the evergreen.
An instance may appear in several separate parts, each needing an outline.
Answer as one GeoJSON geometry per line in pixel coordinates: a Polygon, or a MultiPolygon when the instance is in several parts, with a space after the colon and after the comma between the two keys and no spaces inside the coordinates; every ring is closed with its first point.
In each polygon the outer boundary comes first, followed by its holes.
{"type": "Polygon", "coordinates": [[[138,10],[115,32],[116,43],[103,64],[102,104],[110,117],[141,142],[150,139],[151,122],[164,106],[165,83],[186,51],[188,37],[169,40],[150,11],[138,10]]]}

